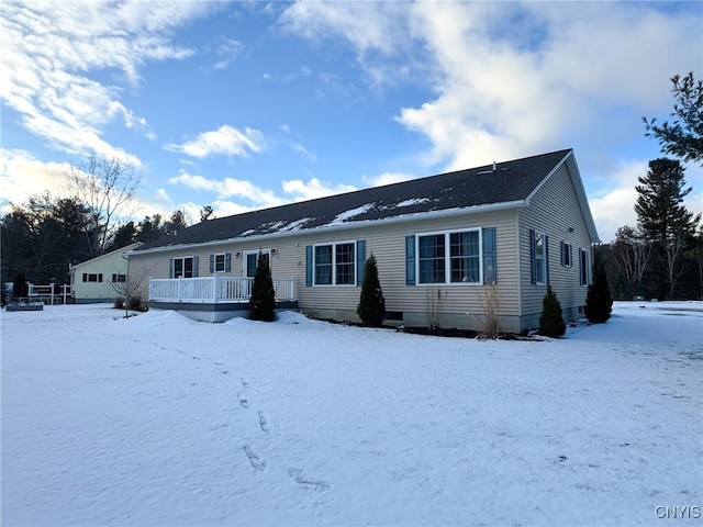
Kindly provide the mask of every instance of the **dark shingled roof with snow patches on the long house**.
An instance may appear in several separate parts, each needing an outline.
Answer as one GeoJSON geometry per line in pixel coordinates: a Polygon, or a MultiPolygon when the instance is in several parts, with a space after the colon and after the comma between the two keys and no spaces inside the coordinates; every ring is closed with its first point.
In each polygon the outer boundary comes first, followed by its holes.
{"type": "Polygon", "coordinates": [[[198,223],[136,253],[525,200],[570,149],[198,223]]]}

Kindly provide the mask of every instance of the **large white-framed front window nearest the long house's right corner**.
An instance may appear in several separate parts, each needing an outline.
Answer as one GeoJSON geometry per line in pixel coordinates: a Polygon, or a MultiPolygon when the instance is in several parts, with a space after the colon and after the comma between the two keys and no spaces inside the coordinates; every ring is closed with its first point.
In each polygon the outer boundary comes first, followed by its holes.
{"type": "Polygon", "coordinates": [[[481,229],[416,235],[417,283],[482,283],[481,229]]]}

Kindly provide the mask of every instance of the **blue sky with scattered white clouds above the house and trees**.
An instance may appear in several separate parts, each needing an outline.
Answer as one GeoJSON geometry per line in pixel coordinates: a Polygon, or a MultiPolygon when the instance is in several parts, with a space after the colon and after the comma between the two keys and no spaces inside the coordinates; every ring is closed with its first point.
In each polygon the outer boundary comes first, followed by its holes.
{"type": "Polygon", "coordinates": [[[91,154],[135,168],[134,220],[197,221],[573,148],[609,242],[702,27],[703,2],[4,0],[0,210],[91,154]]]}

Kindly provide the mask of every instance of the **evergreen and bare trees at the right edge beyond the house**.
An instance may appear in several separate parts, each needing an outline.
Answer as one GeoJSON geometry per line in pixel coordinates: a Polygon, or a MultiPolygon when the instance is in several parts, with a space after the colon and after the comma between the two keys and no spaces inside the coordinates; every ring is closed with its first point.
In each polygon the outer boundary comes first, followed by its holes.
{"type": "Polygon", "coordinates": [[[693,74],[671,78],[674,98],[670,122],[643,117],[646,136],[670,157],[649,161],[638,178],[636,225],[622,226],[615,240],[595,249],[596,268],[607,274],[613,296],[703,300],[703,225],[701,214],[683,205],[692,188],[681,161],[703,166],[703,82],[693,74]]]}

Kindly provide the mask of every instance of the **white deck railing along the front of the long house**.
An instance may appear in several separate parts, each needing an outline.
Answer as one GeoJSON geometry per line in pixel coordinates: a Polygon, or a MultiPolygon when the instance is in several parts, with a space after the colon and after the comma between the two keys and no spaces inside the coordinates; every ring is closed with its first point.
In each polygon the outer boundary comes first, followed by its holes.
{"type": "MultiPolygon", "coordinates": [[[[252,296],[253,278],[202,277],[149,279],[150,302],[180,302],[186,304],[244,303],[252,296]]],[[[277,302],[295,300],[295,280],[275,278],[277,302]]]]}

